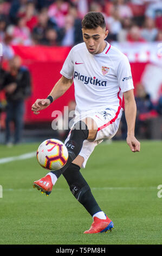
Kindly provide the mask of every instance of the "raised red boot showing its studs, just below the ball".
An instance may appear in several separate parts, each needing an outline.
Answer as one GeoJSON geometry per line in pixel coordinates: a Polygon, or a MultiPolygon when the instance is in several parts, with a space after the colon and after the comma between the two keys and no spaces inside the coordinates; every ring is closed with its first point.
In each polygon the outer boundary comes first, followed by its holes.
{"type": "Polygon", "coordinates": [[[40,180],[36,180],[33,183],[33,187],[37,188],[37,190],[41,190],[41,193],[46,193],[47,196],[51,193],[51,190],[53,189],[53,184],[51,181],[51,176],[47,175],[43,177],[40,180]]]}

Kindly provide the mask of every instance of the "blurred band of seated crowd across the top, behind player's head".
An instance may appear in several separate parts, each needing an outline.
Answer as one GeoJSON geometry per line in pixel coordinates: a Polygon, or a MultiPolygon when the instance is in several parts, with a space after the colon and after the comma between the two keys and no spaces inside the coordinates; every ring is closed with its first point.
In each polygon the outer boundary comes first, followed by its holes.
{"type": "Polygon", "coordinates": [[[103,13],[109,41],[162,41],[161,0],[1,0],[0,41],[73,46],[88,11],[103,13]]]}

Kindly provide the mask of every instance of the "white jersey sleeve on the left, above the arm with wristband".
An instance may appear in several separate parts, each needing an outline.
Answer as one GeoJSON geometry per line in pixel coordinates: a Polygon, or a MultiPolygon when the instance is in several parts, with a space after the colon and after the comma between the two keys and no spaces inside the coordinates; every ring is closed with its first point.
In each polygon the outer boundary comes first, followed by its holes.
{"type": "Polygon", "coordinates": [[[74,62],[73,62],[73,48],[70,50],[68,57],[64,61],[60,74],[68,79],[73,78],[74,74],[74,62]]]}

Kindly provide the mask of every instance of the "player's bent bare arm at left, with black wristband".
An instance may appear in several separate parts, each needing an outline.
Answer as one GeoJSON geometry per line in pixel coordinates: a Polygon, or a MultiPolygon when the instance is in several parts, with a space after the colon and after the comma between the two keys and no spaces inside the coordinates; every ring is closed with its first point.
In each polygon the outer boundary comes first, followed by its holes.
{"type": "MultiPolygon", "coordinates": [[[[70,88],[72,83],[73,79],[62,76],[60,80],[57,81],[49,95],[52,96],[54,100],[58,99],[70,88]]],[[[47,108],[49,105],[49,99],[37,99],[32,105],[31,111],[33,111],[34,114],[39,114],[42,109],[47,108]]]]}

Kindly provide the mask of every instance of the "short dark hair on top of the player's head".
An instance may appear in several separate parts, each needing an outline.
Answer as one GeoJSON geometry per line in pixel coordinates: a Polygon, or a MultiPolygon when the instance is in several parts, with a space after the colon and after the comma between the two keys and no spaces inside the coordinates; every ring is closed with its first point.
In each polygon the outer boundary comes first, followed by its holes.
{"type": "Polygon", "coordinates": [[[95,11],[90,11],[83,17],[82,20],[82,28],[97,28],[97,27],[105,28],[105,18],[101,13],[97,13],[95,11]]]}

